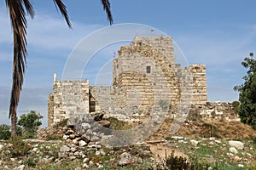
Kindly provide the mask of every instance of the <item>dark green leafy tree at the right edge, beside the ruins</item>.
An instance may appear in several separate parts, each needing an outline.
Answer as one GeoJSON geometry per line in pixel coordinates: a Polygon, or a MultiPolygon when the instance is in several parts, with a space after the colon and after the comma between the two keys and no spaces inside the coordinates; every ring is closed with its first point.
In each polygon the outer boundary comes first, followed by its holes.
{"type": "Polygon", "coordinates": [[[234,89],[240,93],[238,114],[241,122],[256,129],[256,60],[253,59],[253,53],[250,53],[250,56],[251,59],[245,58],[241,62],[247,69],[247,75],[243,77],[245,82],[234,89]]]}

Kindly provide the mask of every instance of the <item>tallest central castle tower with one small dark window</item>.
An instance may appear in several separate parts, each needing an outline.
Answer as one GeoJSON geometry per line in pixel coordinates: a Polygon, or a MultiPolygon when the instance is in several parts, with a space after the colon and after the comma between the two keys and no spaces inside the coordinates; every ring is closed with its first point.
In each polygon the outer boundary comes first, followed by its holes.
{"type": "Polygon", "coordinates": [[[177,105],[178,78],[171,37],[137,37],[113,60],[113,87],[133,94],[134,105],[152,107],[157,99],[177,105]]]}

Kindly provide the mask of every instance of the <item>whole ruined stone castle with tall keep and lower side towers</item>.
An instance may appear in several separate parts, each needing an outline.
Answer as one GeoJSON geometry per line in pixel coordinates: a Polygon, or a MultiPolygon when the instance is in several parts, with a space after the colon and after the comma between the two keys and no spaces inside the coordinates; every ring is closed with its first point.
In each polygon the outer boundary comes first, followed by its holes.
{"type": "Polygon", "coordinates": [[[54,80],[48,99],[48,125],[78,114],[104,112],[120,119],[161,107],[207,105],[205,65],[176,63],[172,37],[135,37],[113,59],[113,86],[90,86],[89,80],[54,80]]]}

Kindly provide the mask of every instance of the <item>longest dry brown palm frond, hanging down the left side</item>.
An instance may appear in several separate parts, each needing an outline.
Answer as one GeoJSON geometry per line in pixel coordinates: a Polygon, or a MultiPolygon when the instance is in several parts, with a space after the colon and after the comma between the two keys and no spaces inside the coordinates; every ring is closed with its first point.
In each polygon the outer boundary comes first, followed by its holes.
{"type": "MultiPolygon", "coordinates": [[[[22,0],[5,0],[14,34],[13,85],[9,107],[9,117],[16,114],[20,91],[26,67],[26,11],[22,0]]],[[[28,4],[26,2],[26,4],[28,4]]],[[[30,11],[32,11],[31,7],[30,11]]]]}

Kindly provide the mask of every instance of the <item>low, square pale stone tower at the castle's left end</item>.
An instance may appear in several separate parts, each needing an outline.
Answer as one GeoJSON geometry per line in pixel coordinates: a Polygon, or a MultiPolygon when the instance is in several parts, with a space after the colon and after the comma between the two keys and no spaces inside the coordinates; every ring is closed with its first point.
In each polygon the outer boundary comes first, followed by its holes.
{"type": "Polygon", "coordinates": [[[89,112],[88,80],[55,81],[53,90],[53,121],[49,121],[49,125],[61,122],[75,114],[81,115],[89,112]]]}

